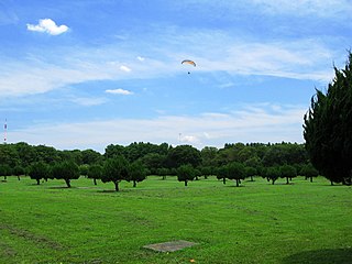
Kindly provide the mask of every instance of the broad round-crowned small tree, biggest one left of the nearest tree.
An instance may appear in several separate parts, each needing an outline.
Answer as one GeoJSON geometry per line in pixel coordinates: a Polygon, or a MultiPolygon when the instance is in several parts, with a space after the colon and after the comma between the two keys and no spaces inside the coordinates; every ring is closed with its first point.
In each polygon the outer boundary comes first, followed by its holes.
{"type": "Polygon", "coordinates": [[[70,188],[70,180],[78,179],[79,176],[79,167],[73,161],[56,163],[53,166],[53,177],[64,179],[67,188],[70,188]]]}

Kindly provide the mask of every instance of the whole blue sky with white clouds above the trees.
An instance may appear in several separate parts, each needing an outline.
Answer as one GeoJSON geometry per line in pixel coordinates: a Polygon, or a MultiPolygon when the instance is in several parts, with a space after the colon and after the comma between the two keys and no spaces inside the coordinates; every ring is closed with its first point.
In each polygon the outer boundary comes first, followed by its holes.
{"type": "Polygon", "coordinates": [[[350,0],[0,0],[3,138],[101,153],[304,143],[311,97],[346,62],[351,12],[350,0]]]}

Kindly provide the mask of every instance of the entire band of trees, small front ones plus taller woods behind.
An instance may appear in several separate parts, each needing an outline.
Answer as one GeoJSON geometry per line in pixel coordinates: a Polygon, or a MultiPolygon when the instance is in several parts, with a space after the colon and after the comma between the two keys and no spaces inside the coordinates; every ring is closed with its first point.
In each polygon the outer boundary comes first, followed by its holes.
{"type": "Polygon", "coordinates": [[[61,151],[52,146],[30,145],[24,142],[0,145],[0,176],[29,175],[41,180],[63,179],[67,187],[80,176],[102,183],[112,182],[119,190],[121,180],[135,187],[147,175],[177,176],[187,186],[189,180],[216,175],[224,184],[234,180],[237,186],[249,177],[262,176],[274,184],[278,178],[286,183],[297,175],[312,180],[318,170],[311,165],[304,144],[297,143],[234,143],[222,148],[191,145],[172,146],[167,143],[134,142],[123,146],[110,144],[101,154],[94,150],[61,151]]]}

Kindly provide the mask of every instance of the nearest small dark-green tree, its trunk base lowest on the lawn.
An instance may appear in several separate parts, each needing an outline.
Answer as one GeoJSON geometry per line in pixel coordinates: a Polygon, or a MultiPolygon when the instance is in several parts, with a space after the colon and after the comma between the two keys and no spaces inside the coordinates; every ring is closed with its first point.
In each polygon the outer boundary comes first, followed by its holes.
{"type": "Polygon", "coordinates": [[[119,183],[128,179],[128,166],[129,163],[123,156],[116,156],[107,160],[103,164],[101,182],[112,182],[114,184],[116,191],[119,191],[119,183]]]}

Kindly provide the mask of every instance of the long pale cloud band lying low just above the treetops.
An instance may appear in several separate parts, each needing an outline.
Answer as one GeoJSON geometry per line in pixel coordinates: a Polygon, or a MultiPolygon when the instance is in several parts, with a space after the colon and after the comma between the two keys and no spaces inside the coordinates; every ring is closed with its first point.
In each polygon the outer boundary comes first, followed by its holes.
{"type": "Polygon", "coordinates": [[[101,152],[109,144],[128,145],[135,141],[187,143],[198,148],[206,145],[222,147],[224,143],[233,142],[302,142],[301,124],[306,110],[263,103],[228,113],[35,124],[9,131],[9,139],[57,148],[92,147],[101,152]]]}

